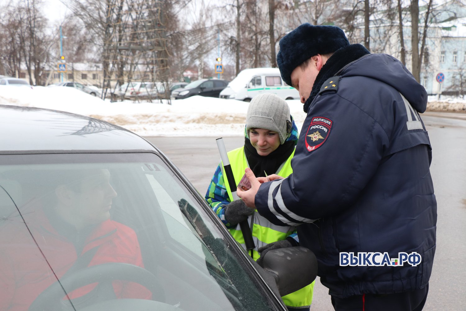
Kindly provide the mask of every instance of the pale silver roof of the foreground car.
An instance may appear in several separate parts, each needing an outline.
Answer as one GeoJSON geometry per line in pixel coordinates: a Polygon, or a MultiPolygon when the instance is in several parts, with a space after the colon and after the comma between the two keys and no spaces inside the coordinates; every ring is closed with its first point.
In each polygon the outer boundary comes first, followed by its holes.
{"type": "MultiPolygon", "coordinates": [[[[0,105],[0,154],[49,151],[157,151],[144,138],[92,117],[42,108],[0,105]]],[[[53,153],[53,152],[52,152],[53,153]]]]}

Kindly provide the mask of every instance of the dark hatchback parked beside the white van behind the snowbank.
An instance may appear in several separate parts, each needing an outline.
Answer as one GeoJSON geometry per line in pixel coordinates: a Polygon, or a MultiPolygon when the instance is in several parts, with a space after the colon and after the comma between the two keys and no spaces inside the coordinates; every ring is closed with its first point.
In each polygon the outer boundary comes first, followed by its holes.
{"type": "Polygon", "coordinates": [[[219,97],[220,92],[226,88],[228,81],[218,79],[200,79],[193,81],[181,89],[171,92],[174,99],[184,99],[194,95],[206,97],[219,97]]]}

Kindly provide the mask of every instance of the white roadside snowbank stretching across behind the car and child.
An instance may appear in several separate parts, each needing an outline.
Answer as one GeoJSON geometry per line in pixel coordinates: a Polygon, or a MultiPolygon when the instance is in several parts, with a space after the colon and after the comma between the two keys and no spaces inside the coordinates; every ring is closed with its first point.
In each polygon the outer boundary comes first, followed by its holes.
{"type": "MultiPolygon", "coordinates": [[[[305,114],[298,100],[288,100],[301,129],[305,114]]],[[[141,136],[238,136],[244,131],[248,103],[194,96],[160,103],[101,100],[66,87],[0,87],[0,104],[41,107],[103,119],[141,136]]],[[[429,98],[428,110],[466,112],[466,100],[429,98]]]]}

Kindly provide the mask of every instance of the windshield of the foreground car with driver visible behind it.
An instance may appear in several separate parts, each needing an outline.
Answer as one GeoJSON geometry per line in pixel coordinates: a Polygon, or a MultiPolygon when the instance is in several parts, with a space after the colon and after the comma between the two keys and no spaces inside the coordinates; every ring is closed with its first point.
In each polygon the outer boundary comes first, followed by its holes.
{"type": "Polygon", "coordinates": [[[0,200],[0,310],[275,310],[155,154],[0,156],[0,200]]]}

